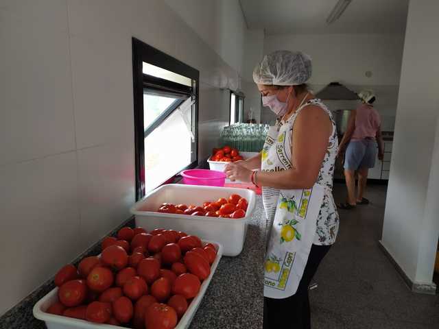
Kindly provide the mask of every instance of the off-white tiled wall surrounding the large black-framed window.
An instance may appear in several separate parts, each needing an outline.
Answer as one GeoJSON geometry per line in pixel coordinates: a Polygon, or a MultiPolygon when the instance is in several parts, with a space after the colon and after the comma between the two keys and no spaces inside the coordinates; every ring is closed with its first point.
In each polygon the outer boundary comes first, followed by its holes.
{"type": "MultiPolygon", "coordinates": [[[[228,22],[229,5],[204,22],[228,22]]],[[[245,43],[244,26],[221,27],[237,39],[217,51],[161,0],[1,1],[0,314],[130,215],[132,36],[200,70],[209,155],[228,123],[219,86],[237,81],[245,43]]]]}

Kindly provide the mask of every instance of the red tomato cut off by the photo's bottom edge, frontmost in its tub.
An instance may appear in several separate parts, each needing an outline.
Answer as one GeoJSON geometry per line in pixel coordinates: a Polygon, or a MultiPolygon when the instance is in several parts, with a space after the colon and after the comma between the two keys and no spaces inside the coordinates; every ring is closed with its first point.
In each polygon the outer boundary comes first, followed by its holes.
{"type": "Polygon", "coordinates": [[[145,327],[147,329],[173,329],[177,321],[176,311],[166,304],[154,303],[146,310],[145,327]]]}

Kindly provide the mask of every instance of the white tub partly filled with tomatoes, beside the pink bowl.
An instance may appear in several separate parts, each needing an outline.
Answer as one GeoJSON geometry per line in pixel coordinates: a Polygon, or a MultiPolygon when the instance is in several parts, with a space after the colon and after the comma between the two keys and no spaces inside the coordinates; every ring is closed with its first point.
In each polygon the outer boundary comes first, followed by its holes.
{"type": "Polygon", "coordinates": [[[134,204],[137,226],[174,228],[217,241],[224,256],[241,253],[256,195],[246,188],[167,184],[134,204]]]}

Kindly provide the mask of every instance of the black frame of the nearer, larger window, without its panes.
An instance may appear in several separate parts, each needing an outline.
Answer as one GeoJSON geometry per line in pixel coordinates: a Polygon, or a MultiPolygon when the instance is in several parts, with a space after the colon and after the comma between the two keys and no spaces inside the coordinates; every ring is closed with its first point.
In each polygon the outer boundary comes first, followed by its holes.
{"type": "MultiPolygon", "coordinates": [[[[193,142],[193,149],[195,151],[195,160],[193,160],[187,167],[194,168],[198,164],[198,104],[199,104],[199,86],[200,86],[200,72],[193,69],[191,66],[180,62],[163,51],[155,49],[145,42],[132,38],[132,87],[133,87],[133,105],[134,105],[134,157],[135,157],[135,183],[136,183],[136,200],[143,198],[145,192],[145,177],[141,173],[141,169],[145,168],[145,136],[152,131],[152,128],[158,127],[163,121],[169,117],[178,106],[171,106],[165,110],[161,116],[149,127],[143,125],[143,91],[144,88],[159,90],[167,90],[169,93],[185,94],[189,97],[195,97],[195,113],[193,116],[192,129],[195,141],[193,142]],[[168,71],[184,75],[193,80],[191,87],[171,82],[169,80],[154,77],[143,73],[143,62],[161,67],[168,71]],[[145,131],[145,128],[148,128],[145,131]],[[145,135],[145,133],[147,133],[145,135]]],[[[176,105],[176,104],[174,104],[176,105]]]]}

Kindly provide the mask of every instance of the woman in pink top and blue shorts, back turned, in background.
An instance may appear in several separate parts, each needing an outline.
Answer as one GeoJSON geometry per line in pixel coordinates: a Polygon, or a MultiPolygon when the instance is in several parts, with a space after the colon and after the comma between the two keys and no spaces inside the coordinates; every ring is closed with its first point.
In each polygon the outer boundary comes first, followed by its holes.
{"type": "Polygon", "coordinates": [[[375,158],[383,160],[383,139],[381,137],[381,118],[372,106],[375,95],[372,90],[363,90],[358,94],[363,102],[356,110],[351,111],[348,127],[339,145],[340,155],[347,144],[344,156],[344,177],[348,189],[346,203],[339,208],[352,209],[357,204],[368,204],[363,197],[368,180],[369,168],[375,167],[375,158]],[[358,175],[358,191],[355,194],[355,171],[358,175]]]}

